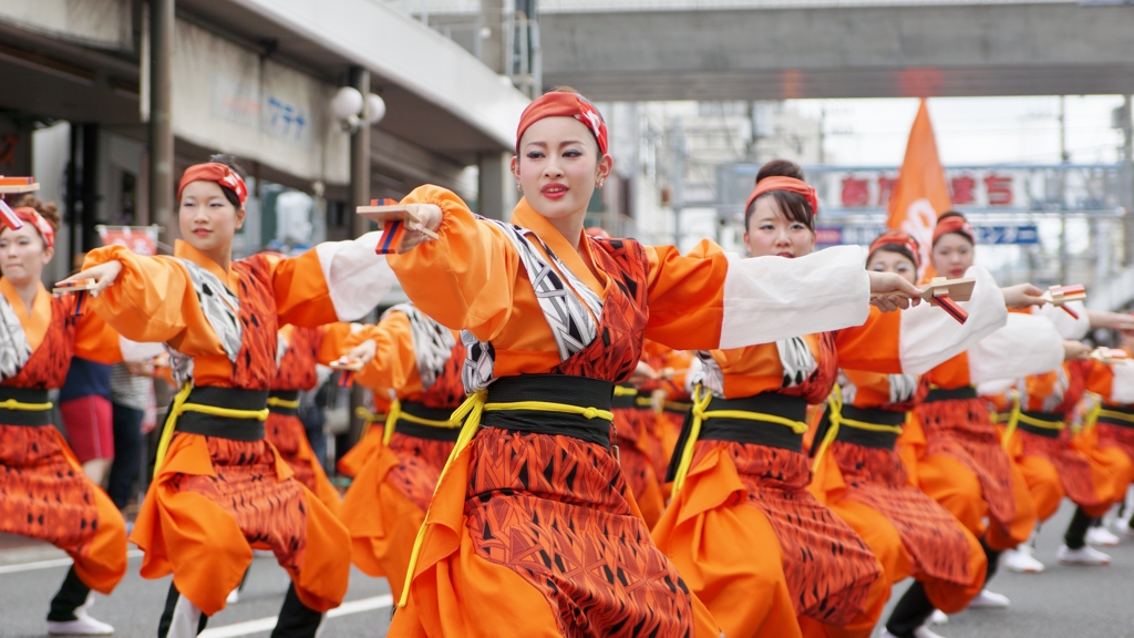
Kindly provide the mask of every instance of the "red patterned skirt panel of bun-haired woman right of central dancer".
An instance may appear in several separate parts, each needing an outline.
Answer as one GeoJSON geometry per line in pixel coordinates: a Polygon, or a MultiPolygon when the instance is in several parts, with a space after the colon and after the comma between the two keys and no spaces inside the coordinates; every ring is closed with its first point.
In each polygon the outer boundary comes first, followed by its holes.
{"type": "MultiPolygon", "coordinates": [[[[747,492],[747,502],[768,517],[784,556],[784,576],[799,615],[841,626],[863,611],[878,560],[849,526],[807,492],[810,459],[798,452],[697,442],[701,459],[725,445],[747,492]]],[[[738,548],[739,551],[741,548],[738,548]]]]}

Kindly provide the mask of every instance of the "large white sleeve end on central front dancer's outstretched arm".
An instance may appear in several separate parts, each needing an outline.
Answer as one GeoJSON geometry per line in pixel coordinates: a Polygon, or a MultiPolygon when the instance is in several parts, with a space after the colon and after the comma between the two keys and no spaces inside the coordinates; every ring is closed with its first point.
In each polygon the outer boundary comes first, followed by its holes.
{"type": "Polygon", "coordinates": [[[860,246],[806,257],[728,253],[720,347],[744,347],[861,326],[870,314],[870,277],[860,246]]]}

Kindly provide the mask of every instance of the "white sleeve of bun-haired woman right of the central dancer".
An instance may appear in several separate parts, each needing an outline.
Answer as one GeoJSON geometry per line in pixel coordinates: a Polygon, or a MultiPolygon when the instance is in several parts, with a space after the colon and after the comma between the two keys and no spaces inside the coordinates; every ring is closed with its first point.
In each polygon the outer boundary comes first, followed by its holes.
{"type": "Polygon", "coordinates": [[[970,268],[966,275],[975,278],[976,285],[970,301],[958,302],[968,312],[968,320],[964,324],[928,303],[902,312],[898,355],[903,372],[924,375],[968,350],[1008,321],[1004,294],[992,275],[978,266],[970,268]]]}

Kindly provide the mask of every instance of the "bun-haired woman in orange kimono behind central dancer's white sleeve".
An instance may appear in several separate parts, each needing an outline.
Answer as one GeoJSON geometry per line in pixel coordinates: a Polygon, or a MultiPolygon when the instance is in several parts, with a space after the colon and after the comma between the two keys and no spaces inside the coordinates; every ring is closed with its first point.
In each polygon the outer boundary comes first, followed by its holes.
{"type": "MultiPolygon", "coordinates": [[[[790,262],[812,253],[818,198],[799,175],[790,162],[761,169],[745,205],[751,254],[790,262]],[[785,168],[795,176],[776,173],[785,168]]],[[[726,636],[871,633],[890,584],[871,547],[806,489],[807,404],[827,398],[840,363],[923,372],[1006,320],[1005,297],[987,274],[970,308],[964,325],[925,304],[871,313],[860,328],[699,353],[703,389],[653,537],[726,636]]]]}

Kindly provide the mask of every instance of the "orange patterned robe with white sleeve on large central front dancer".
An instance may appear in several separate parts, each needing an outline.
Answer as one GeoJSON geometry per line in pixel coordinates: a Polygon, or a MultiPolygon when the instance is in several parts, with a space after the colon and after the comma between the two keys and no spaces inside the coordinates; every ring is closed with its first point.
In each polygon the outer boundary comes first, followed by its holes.
{"type": "MultiPolygon", "coordinates": [[[[526,201],[516,207],[515,226],[479,220],[433,186],[406,202],[442,209],[440,238],[389,258],[390,266],[424,312],[475,338],[466,366],[475,383],[551,373],[601,385],[629,376],[645,337],[703,349],[782,335],[799,324],[795,309],[778,314],[776,304],[802,301],[784,285],[794,280],[787,270],[812,265],[831,267],[815,275],[820,285],[804,304],[837,304],[849,321],[866,310],[862,274],[845,269],[861,268],[861,254],[850,251],[796,265],[689,258],[629,240],[572,242],[526,201]],[[756,299],[767,302],[768,320],[734,314],[756,299]]],[[[516,636],[719,636],[650,540],[610,450],[574,434],[491,427],[502,419],[492,414],[439,481],[408,604],[395,614],[391,635],[494,636],[507,628],[516,636]]],[[[540,422],[578,429],[552,412],[540,412],[540,422]]]]}

